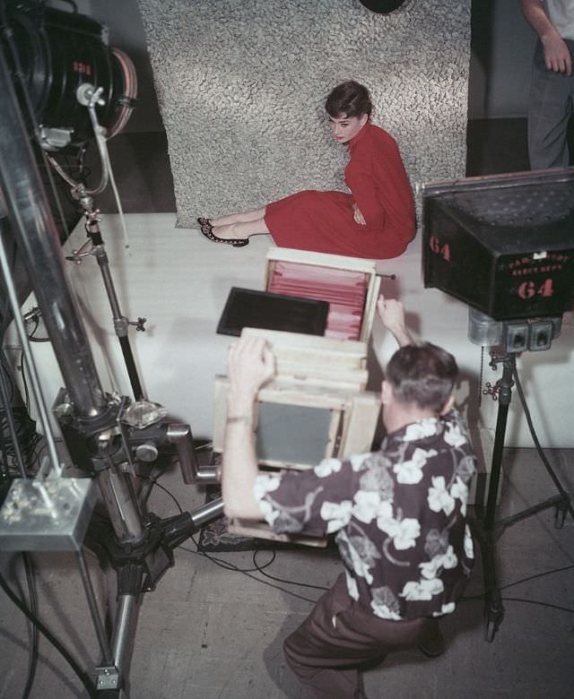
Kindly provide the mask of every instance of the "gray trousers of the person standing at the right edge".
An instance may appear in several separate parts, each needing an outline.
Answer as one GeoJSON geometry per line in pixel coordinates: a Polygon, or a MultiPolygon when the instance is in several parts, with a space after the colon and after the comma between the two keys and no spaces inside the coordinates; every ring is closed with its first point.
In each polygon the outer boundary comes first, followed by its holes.
{"type": "MultiPolygon", "coordinates": [[[[566,43],[574,56],[574,41],[566,39],[566,43]]],[[[568,167],[567,131],[573,102],[574,75],[548,70],[538,41],[528,106],[528,157],[532,169],[568,167]]]]}

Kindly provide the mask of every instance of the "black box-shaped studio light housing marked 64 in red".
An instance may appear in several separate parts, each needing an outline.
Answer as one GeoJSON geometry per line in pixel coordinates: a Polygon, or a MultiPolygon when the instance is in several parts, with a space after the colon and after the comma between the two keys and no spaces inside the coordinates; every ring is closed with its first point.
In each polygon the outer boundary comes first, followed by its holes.
{"type": "Polygon", "coordinates": [[[424,286],[497,321],[574,304],[574,168],[424,186],[424,286]]]}

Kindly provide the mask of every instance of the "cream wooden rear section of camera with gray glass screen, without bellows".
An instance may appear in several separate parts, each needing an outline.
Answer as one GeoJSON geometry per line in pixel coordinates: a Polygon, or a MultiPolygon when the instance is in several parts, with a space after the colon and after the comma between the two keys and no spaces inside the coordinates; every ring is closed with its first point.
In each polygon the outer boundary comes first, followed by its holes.
{"type": "MultiPolygon", "coordinates": [[[[370,451],[380,413],[380,397],[364,390],[365,342],[254,328],[244,328],[241,334],[264,337],[276,362],[274,380],[257,395],[254,429],[260,470],[305,470],[327,457],[344,458],[370,451]],[[293,435],[297,438],[293,439],[293,435]]],[[[223,450],[228,391],[227,377],[217,376],[214,453],[223,450]]],[[[233,519],[229,531],[261,539],[326,546],[326,539],[276,534],[265,522],[233,519]]]]}

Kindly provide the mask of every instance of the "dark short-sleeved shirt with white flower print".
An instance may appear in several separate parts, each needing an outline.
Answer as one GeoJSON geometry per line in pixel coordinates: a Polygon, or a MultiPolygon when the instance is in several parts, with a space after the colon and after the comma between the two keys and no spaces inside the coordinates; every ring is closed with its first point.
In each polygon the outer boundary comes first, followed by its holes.
{"type": "Polygon", "coordinates": [[[336,531],[347,590],[377,617],[438,617],[454,610],[474,563],[474,470],[453,410],[388,435],[377,453],[260,475],[255,495],[274,531],[336,531]]]}

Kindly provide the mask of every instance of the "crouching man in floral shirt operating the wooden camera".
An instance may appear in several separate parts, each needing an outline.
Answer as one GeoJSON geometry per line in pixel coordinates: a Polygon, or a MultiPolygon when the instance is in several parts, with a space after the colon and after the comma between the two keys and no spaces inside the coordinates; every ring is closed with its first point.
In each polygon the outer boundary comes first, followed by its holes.
{"type": "Polygon", "coordinates": [[[398,302],[380,298],[378,312],[401,349],[382,385],[387,437],[377,453],[258,475],[253,405],[273,356],[265,341],[241,340],[228,362],[226,513],[263,515],[278,532],[337,532],[344,573],[284,646],[311,696],[325,699],[363,696],[361,665],[387,652],[439,654],[437,619],[454,610],[474,560],[465,522],[474,453],[452,410],[457,363],[413,344],[398,302]]]}

